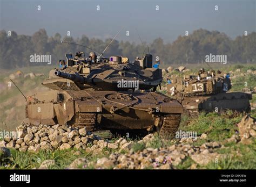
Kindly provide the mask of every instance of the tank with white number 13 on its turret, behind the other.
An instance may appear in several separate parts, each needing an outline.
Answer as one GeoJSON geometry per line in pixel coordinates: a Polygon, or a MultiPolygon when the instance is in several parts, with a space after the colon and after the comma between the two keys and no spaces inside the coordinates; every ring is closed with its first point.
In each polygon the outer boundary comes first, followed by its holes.
{"type": "Polygon", "coordinates": [[[167,93],[179,100],[190,116],[200,111],[221,112],[234,110],[250,111],[252,95],[244,92],[227,92],[231,89],[229,74],[199,70],[198,76],[184,75],[183,78],[168,80],[167,93]]]}

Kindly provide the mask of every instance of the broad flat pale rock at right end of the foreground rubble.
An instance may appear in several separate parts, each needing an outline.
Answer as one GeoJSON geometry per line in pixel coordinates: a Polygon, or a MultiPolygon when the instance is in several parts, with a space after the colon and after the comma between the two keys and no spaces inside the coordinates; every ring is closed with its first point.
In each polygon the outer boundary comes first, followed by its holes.
{"type": "Polygon", "coordinates": [[[211,161],[215,161],[215,159],[220,159],[222,157],[223,155],[218,153],[207,153],[207,154],[200,153],[196,155],[191,155],[191,159],[200,165],[206,165],[211,161]]]}

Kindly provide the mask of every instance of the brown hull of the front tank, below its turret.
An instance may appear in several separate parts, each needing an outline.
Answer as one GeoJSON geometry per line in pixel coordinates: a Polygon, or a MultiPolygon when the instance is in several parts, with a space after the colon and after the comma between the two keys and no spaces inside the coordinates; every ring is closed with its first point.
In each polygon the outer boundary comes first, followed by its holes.
{"type": "Polygon", "coordinates": [[[35,97],[26,105],[26,117],[33,125],[69,125],[89,131],[156,131],[165,124],[162,134],[170,136],[183,112],[177,100],[157,92],[49,91],[35,97]]]}

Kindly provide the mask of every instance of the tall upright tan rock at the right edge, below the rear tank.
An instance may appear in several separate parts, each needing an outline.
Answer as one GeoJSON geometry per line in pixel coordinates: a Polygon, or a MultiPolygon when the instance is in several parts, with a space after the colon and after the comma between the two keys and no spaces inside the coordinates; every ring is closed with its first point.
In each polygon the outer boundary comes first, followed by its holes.
{"type": "Polygon", "coordinates": [[[250,115],[246,114],[244,118],[238,124],[238,131],[241,138],[241,142],[244,144],[250,144],[253,142],[253,136],[250,134],[250,131],[255,128],[255,119],[250,115]]]}

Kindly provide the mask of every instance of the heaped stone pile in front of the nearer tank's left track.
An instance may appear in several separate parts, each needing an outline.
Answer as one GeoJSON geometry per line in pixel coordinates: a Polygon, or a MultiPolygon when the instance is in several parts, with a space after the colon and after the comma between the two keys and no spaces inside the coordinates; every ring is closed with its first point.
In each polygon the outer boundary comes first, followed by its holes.
{"type": "MultiPolygon", "coordinates": [[[[31,126],[30,123],[22,123],[16,128],[18,137],[5,137],[0,141],[0,147],[15,148],[19,151],[37,152],[39,149],[86,149],[90,144],[97,143],[104,147],[100,137],[86,131],[84,128],[67,128],[59,125],[39,125],[31,126]]],[[[107,145],[106,145],[107,146],[107,145]]],[[[111,145],[110,145],[111,146],[111,145]]],[[[95,147],[91,147],[96,149],[95,147]]]]}

